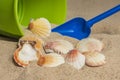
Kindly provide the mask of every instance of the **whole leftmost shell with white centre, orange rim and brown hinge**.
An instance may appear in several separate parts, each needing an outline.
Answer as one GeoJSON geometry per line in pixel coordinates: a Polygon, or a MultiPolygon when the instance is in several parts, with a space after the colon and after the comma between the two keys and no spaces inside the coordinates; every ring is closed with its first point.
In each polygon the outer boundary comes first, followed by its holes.
{"type": "Polygon", "coordinates": [[[23,36],[14,52],[14,60],[19,66],[26,67],[30,61],[38,60],[42,54],[43,41],[41,39],[35,36],[23,36]]]}

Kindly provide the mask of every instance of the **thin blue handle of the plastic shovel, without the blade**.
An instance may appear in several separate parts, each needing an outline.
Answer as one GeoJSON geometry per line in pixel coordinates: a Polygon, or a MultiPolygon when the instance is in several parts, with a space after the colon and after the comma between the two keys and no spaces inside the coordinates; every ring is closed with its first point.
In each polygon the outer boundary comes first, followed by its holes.
{"type": "Polygon", "coordinates": [[[120,11],[120,4],[113,7],[112,9],[110,9],[110,10],[108,10],[108,11],[106,11],[106,12],[104,12],[104,13],[102,13],[102,14],[100,14],[100,15],[98,15],[98,16],[90,19],[90,20],[88,20],[87,24],[89,25],[89,27],[92,27],[93,24],[103,20],[104,18],[107,18],[107,17],[111,16],[112,14],[114,14],[118,11],[120,11]]]}

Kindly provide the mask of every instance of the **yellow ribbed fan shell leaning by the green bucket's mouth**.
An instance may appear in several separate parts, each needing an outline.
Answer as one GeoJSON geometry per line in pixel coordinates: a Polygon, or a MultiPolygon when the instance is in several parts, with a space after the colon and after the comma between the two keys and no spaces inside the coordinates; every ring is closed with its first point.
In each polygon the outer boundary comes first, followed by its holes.
{"type": "Polygon", "coordinates": [[[46,18],[39,18],[32,20],[28,26],[28,29],[42,38],[46,38],[51,33],[51,24],[46,18]]]}

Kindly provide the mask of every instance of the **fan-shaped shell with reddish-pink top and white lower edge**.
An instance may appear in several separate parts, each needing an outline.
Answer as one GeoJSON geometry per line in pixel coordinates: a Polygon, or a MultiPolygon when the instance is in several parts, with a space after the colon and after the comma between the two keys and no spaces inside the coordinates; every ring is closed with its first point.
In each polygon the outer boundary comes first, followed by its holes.
{"type": "Polygon", "coordinates": [[[66,62],[76,69],[81,69],[85,65],[85,56],[82,55],[79,50],[71,50],[65,58],[66,62]]]}

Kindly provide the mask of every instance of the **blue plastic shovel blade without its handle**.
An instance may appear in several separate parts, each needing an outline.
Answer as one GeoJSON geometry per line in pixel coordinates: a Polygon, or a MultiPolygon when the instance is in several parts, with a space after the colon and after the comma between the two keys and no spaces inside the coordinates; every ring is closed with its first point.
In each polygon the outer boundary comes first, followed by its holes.
{"type": "Polygon", "coordinates": [[[91,30],[87,27],[86,21],[83,18],[77,17],[53,28],[52,32],[58,32],[62,35],[81,40],[88,37],[91,30]]]}

